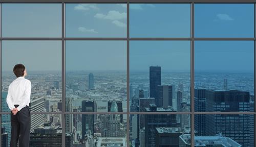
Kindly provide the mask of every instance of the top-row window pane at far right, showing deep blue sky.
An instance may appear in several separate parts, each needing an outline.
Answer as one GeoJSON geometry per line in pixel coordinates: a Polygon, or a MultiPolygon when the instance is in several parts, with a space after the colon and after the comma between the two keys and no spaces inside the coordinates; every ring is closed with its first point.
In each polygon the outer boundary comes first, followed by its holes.
{"type": "Polygon", "coordinates": [[[195,4],[195,37],[254,37],[254,4],[195,4]]]}

